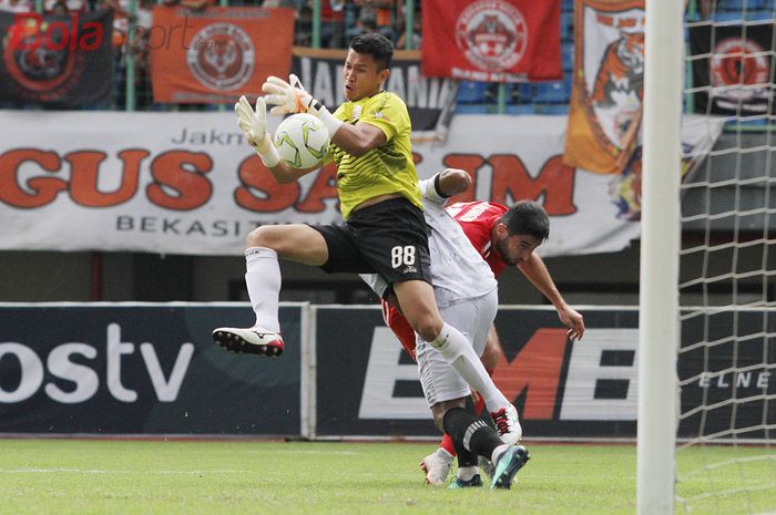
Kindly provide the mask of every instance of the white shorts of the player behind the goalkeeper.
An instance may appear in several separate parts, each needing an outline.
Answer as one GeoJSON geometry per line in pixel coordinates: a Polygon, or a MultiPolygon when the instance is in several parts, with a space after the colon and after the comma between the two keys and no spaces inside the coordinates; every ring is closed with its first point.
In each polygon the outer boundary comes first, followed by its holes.
{"type": "MultiPolygon", "coordinates": [[[[482,297],[440,308],[442,320],[469,339],[482,356],[488,331],[499,309],[498,289],[482,297]]],[[[471,389],[433,347],[417,338],[418,372],[429,408],[442,401],[469,396],[471,389]]]]}

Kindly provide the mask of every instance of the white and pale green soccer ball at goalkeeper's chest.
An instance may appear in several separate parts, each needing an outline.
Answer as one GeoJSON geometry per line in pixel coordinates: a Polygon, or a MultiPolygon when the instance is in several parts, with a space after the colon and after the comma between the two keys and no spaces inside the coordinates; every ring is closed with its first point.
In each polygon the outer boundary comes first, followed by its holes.
{"type": "Polygon", "coordinates": [[[292,168],[313,168],[329,151],[329,132],[317,117],[298,113],[280,122],[274,143],[292,168]]]}

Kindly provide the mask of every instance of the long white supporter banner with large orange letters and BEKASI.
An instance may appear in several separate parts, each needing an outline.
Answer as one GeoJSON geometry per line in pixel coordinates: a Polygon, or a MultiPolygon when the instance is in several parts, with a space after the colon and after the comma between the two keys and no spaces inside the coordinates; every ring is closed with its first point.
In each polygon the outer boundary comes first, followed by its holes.
{"type": "MultiPolygon", "coordinates": [[[[0,117],[2,249],[239,256],[257,225],[341,220],[335,167],[277,184],[234,113],[0,117]]],[[[542,256],[626,247],[640,225],[617,218],[609,176],[561,163],[564,130],[560,116],[458,115],[445,145],[413,145],[418,173],[468,171],[460,198],[542,202],[552,224],[542,256]]]]}

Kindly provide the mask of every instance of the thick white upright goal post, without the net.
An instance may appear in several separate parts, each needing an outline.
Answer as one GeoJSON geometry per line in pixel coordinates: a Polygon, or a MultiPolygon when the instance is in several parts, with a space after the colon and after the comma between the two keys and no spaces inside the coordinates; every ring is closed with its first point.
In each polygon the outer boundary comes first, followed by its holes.
{"type": "Polygon", "coordinates": [[[646,0],[636,513],[674,513],[684,2],[646,0]]]}

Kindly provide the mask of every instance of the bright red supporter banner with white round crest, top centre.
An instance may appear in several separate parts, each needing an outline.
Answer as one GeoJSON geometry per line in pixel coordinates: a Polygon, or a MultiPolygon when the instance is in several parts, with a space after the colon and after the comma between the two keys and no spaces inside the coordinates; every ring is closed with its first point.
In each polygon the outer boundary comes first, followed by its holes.
{"type": "Polygon", "coordinates": [[[563,78],[560,0],[423,0],[422,71],[463,81],[563,78]]]}

